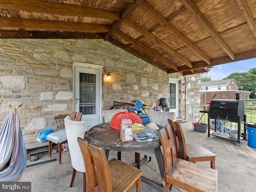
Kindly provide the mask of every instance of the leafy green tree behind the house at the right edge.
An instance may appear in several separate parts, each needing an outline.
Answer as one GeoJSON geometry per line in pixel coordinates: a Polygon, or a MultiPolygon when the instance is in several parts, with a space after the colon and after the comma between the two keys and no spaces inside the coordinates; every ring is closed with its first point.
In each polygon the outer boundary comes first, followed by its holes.
{"type": "MultiPolygon", "coordinates": [[[[254,68],[250,70],[253,72],[254,68]]],[[[256,74],[251,72],[236,72],[223,79],[232,78],[235,80],[239,90],[250,91],[250,98],[256,98],[256,74]]]]}

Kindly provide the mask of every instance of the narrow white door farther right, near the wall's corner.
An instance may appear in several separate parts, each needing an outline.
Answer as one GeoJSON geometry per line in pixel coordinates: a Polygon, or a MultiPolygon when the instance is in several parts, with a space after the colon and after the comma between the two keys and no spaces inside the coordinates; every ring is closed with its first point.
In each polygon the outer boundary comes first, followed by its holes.
{"type": "Polygon", "coordinates": [[[170,112],[175,112],[178,117],[178,80],[170,80],[170,112]]]}

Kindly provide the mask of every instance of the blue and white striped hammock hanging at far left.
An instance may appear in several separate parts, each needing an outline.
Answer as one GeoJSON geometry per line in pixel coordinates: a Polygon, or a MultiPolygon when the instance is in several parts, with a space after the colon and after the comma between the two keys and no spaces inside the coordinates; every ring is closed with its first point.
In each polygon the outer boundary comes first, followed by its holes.
{"type": "Polygon", "coordinates": [[[0,182],[19,181],[27,161],[18,106],[12,107],[0,130],[0,149],[0,182]]]}

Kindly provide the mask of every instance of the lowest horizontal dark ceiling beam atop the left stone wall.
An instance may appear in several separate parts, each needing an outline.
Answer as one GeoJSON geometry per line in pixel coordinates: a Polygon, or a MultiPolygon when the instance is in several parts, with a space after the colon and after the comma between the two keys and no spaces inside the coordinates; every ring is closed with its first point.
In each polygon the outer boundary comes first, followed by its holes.
{"type": "Polygon", "coordinates": [[[103,39],[103,33],[0,30],[1,39],[103,39]]]}

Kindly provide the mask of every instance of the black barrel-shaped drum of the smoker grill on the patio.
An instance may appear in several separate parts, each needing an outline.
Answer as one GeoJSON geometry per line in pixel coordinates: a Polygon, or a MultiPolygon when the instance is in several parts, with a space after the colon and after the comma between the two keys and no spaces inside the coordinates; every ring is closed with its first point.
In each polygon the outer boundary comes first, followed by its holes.
{"type": "Polygon", "coordinates": [[[242,100],[213,99],[210,102],[209,116],[212,119],[242,122],[244,121],[244,102],[242,100]]]}

